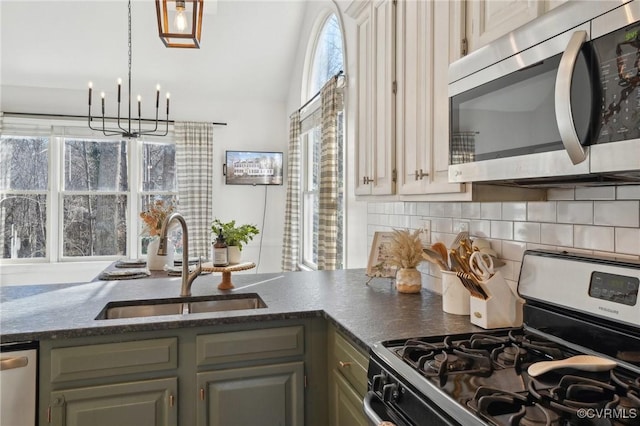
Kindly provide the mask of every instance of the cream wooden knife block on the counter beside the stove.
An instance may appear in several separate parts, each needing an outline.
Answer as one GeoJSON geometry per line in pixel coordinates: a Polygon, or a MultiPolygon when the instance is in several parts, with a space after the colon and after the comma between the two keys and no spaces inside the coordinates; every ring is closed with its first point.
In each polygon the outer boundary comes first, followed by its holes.
{"type": "Polygon", "coordinates": [[[500,271],[487,281],[481,281],[480,285],[489,297],[470,296],[472,324],[486,329],[522,325],[522,299],[509,287],[500,271]]]}

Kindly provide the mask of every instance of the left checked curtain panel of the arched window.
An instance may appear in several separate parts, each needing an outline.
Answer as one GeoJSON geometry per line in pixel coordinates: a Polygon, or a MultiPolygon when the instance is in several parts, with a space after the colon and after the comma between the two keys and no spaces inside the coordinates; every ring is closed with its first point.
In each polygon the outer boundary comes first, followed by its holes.
{"type": "Polygon", "coordinates": [[[300,111],[289,118],[289,164],[287,168],[287,204],[282,241],[282,270],[298,269],[300,253],[300,111]]]}

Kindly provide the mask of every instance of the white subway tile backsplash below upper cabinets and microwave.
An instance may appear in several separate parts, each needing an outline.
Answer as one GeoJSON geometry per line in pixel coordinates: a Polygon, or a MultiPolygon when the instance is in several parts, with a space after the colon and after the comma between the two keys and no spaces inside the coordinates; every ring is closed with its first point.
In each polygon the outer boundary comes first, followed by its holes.
{"type": "MultiPolygon", "coordinates": [[[[485,238],[516,281],[527,249],[640,259],[640,185],[549,189],[546,202],[368,202],[367,241],[375,232],[420,229],[428,241],[451,245],[461,226],[485,238]]],[[[426,240],[425,240],[426,241],[426,240]]],[[[440,271],[427,266],[427,280],[440,271]]]]}

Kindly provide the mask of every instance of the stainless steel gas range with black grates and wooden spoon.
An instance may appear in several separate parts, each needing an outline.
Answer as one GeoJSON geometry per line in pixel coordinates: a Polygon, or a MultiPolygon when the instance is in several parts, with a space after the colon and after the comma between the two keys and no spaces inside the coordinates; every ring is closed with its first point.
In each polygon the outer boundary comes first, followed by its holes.
{"type": "Polygon", "coordinates": [[[375,344],[365,412],[376,425],[640,425],[639,287],[637,262],[527,251],[523,327],[375,344]]]}

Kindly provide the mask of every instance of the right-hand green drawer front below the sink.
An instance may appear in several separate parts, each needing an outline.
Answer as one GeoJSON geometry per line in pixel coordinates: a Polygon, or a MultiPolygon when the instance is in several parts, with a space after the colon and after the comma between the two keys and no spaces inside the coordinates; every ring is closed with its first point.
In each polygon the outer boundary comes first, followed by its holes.
{"type": "Polygon", "coordinates": [[[304,354],[302,326],[204,334],[196,339],[200,365],[263,360],[304,354]]]}

